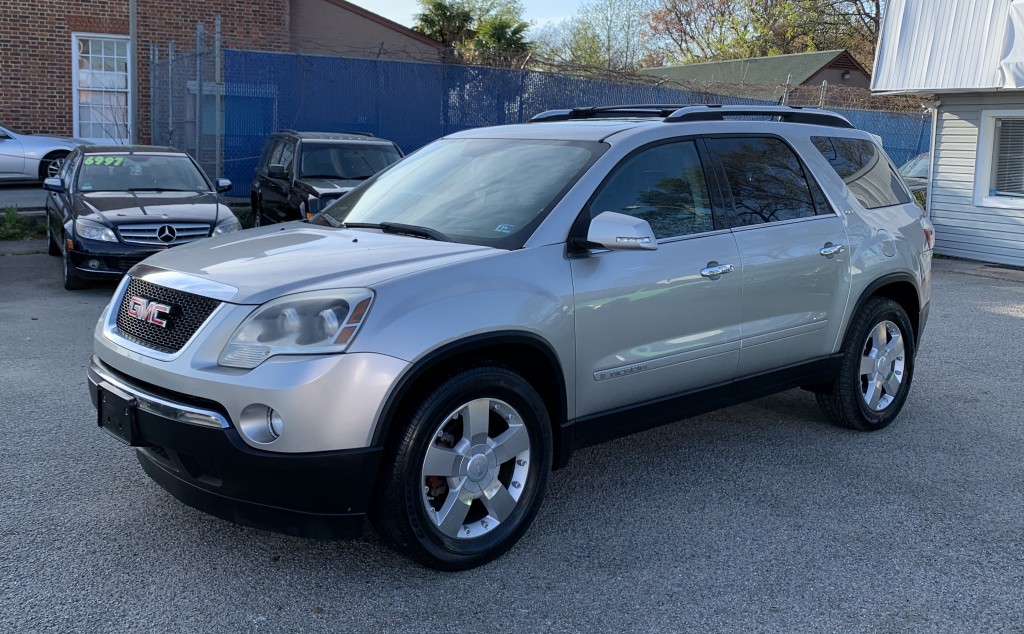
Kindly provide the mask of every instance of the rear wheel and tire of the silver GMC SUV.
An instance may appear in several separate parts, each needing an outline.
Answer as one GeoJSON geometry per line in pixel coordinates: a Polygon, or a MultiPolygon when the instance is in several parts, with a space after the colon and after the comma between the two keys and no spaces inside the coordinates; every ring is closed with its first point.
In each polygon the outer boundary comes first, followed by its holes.
{"type": "Polygon", "coordinates": [[[816,394],[831,422],[860,431],[888,426],[906,401],[916,353],[913,327],[892,299],[868,300],[850,324],[839,378],[816,394]]]}

